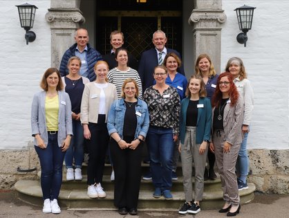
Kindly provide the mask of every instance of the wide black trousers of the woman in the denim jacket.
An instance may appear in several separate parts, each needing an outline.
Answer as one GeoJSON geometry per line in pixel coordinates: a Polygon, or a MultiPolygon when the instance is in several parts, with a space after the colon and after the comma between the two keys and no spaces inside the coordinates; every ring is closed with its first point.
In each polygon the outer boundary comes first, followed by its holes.
{"type": "MultiPolygon", "coordinates": [[[[130,143],[133,138],[123,138],[130,143]]],[[[111,157],[113,159],[114,205],[128,210],[138,208],[138,194],[140,192],[142,143],[136,149],[120,149],[116,141],[111,138],[111,157]]]]}

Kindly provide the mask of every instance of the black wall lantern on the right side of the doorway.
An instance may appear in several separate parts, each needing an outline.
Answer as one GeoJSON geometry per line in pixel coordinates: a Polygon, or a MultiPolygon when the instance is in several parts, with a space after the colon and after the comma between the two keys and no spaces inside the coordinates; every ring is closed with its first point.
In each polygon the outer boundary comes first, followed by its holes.
{"type": "Polygon", "coordinates": [[[240,44],[244,44],[244,47],[246,46],[246,42],[248,40],[247,32],[252,27],[254,9],[255,9],[254,7],[245,5],[235,9],[239,23],[239,28],[243,32],[237,35],[237,41],[240,44]]]}

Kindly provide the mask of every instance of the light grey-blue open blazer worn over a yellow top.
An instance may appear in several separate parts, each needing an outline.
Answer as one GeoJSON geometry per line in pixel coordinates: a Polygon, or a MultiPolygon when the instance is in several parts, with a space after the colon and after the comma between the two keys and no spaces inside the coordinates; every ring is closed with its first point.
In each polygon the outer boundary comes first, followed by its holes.
{"type": "MultiPolygon", "coordinates": [[[[44,140],[45,145],[48,144],[48,133],[45,116],[45,98],[46,91],[36,93],[31,108],[31,129],[32,136],[39,134],[44,140]]],[[[67,135],[73,135],[72,118],[71,118],[71,100],[68,93],[58,91],[59,111],[58,111],[58,146],[61,147],[67,135]]],[[[34,145],[37,145],[35,138],[34,145]]]]}

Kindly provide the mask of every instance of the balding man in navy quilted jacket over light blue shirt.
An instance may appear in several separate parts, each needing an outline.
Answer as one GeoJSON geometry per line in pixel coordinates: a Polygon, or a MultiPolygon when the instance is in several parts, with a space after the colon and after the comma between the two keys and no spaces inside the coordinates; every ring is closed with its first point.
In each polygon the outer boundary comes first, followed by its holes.
{"type": "Polygon", "coordinates": [[[102,55],[88,44],[88,32],[84,28],[76,30],[75,42],[76,43],[68,48],[62,57],[62,62],[59,68],[60,75],[64,76],[68,74],[68,60],[72,56],[77,56],[82,60],[80,75],[93,81],[96,78],[93,67],[97,61],[102,60],[102,55]]]}

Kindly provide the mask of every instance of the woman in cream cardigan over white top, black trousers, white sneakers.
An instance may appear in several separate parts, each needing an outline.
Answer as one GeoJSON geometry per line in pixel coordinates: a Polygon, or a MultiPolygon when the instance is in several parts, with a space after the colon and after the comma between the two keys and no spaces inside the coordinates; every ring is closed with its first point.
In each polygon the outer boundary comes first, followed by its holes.
{"type": "Polygon", "coordinates": [[[106,122],[111,104],[118,99],[115,85],[107,82],[109,65],[104,61],[98,61],[94,71],[96,80],[85,84],[80,112],[84,138],[88,140],[87,194],[91,198],[106,197],[101,185],[109,144],[106,122]]]}

